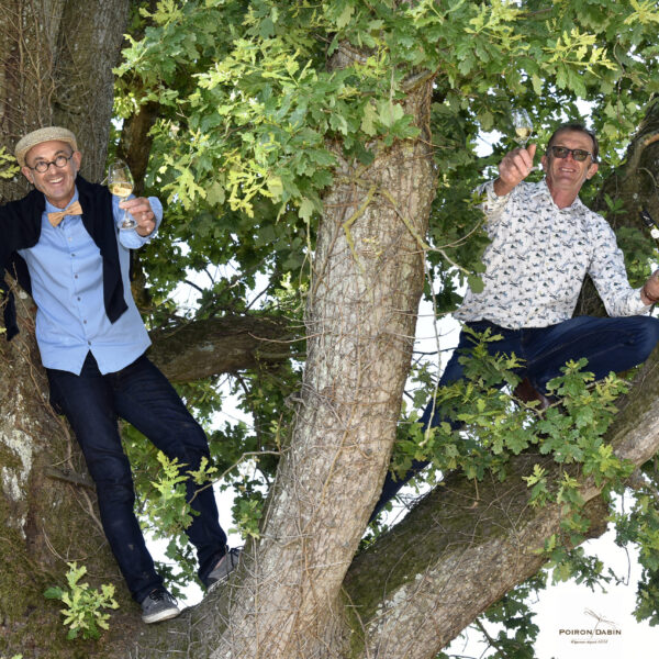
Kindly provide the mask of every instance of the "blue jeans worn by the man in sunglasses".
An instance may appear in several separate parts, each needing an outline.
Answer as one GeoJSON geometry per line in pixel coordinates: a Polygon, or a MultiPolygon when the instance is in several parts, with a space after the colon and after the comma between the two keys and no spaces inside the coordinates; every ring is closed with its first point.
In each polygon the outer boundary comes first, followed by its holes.
{"type": "MultiPolygon", "coordinates": [[[[545,393],[547,382],[560,376],[560,368],[571,359],[585,357],[587,369],[595,375],[595,379],[601,380],[611,371],[618,373],[644,362],[659,342],[659,321],[639,315],[616,319],[579,316],[549,327],[522,330],[506,330],[489,321],[466,325],[478,334],[488,328],[492,335],[500,334],[500,340],[487,343],[488,351],[491,355],[514,353],[523,360],[518,375],[527,377],[541,393],[545,393]]],[[[462,331],[458,346],[442,375],[439,387],[462,379],[459,358],[469,354],[472,346],[472,337],[462,331]]],[[[434,401],[431,400],[420,418],[423,428],[435,427],[442,421],[444,418],[439,410],[435,409],[434,401]]],[[[451,425],[454,428],[459,427],[456,422],[451,425]]],[[[389,472],[370,520],[372,521],[398,491],[428,463],[415,460],[410,471],[399,480],[389,472]]]]}

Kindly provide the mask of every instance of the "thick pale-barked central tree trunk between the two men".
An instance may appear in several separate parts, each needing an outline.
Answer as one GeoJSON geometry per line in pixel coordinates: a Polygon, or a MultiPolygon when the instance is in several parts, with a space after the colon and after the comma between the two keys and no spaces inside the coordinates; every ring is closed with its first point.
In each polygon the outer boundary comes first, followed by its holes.
{"type": "MultiPolygon", "coordinates": [[[[422,131],[431,92],[407,98],[422,131]]],[[[395,437],[435,179],[426,141],[375,148],[362,172],[342,164],[324,200],[297,421],[213,657],[345,656],[342,583],[395,437]]]]}

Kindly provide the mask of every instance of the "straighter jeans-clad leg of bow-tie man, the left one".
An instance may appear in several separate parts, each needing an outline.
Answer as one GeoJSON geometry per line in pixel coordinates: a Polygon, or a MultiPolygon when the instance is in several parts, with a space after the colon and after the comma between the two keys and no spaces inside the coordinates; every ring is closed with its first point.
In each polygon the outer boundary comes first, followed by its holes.
{"type": "Polygon", "coordinates": [[[88,356],[79,376],[48,369],[54,402],[66,414],[97,487],[101,523],[131,594],[142,602],[163,585],[135,518],[135,493],[112,394],[88,356]]]}

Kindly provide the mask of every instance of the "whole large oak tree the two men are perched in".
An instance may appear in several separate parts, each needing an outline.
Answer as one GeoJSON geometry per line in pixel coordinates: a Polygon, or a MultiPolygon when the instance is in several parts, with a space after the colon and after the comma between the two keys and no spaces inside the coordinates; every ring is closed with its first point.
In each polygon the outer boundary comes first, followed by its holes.
{"type": "MultiPolygon", "coordinates": [[[[472,190],[511,146],[513,105],[543,143],[590,103],[603,164],[583,197],[615,226],[632,281],[647,276],[656,253],[638,210],[659,217],[656,2],[1,7],[2,199],[24,193],[7,153],[38,125],[77,132],[91,179],[108,153],[125,157],[167,209],[135,264],[154,358],[204,420],[231,373],[254,427],[209,426],[217,473],[238,493],[239,569],[166,627],[144,628],[75,438],[47,404],[19,292],[23,331],[0,353],[0,654],[429,659],[548,561],[596,579],[574,548],[602,533],[626,487],[636,507],[621,538],[644,548],[639,613],[656,618],[655,361],[623,399],[625,384],[571,365],[545,414],[500,391],[498,380],[514,383],[510,362],[474,364],[470,388],[451,392],[460,436],[420,433],[415,410],[437,372],[412,369],[422,295],[442,315],[465,282],[479,286],[472,190]],[[492,155],[479,156],[494,129],[492,155]],[[174,301],[182,284],[197,291],[191,309],[174,301]],[[411,372],[418,387],[403,405],[411,372]],[[431,459],[443,480],[365,536],[392,455],[399,469],[431,459]],[[94,641],[65,640],[62,604],[43,597],[72,561],[118,589],[121,608],[94,641]]],[[[595,308],[587,289],[583,309],[595,308]]],[[[185,578],[180,511],[149,485],[167,466],[125,436],[185,578]]],[[[533,638],[528,628],[510,656],[530,656],[533,638]]]]}

